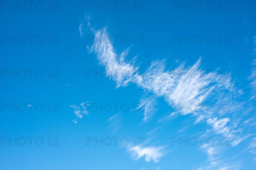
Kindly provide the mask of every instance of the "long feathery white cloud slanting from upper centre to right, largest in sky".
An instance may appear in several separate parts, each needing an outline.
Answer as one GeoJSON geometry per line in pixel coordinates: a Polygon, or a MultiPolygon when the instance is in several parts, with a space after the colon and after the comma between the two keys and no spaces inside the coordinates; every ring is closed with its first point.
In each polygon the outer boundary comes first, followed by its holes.
{"type": "MultiPolygon", "coordinates": [[[[105,28],[95,33],[96,37],[101,35],[102,37],[107,35],[105,28]]],[[[195,77],[172,76],[172,72],[165,71],[165,60],[153,61],[142,76],[137,75],[137,73],[134,75],[131,73],[134,73],[134,70],[138,70],[139,67],[134,66],[135,58],[130,63],[125,62],[128,49],[118,57],[111,43],[96,41],[93,43],[90,51],[96,53],[100,64],[105,66],[106,69],[117,70],[115,75],[111,75],[111,79],[116,82],[116,87],[126,86],[129,82],[134,82],[141,88],[153,92],[156,96],[164,96],[169,104],[173,102],[201,103],[215,88],[215,86],[210,86],[210,83],[218,82],[217,77],[201,77],[199,73],[195,77]],[[121,71],[123,70],[127,70],[130,74],[125,77],[122,76],[121,71]]],[[[186,70],[197,70],[200,63],[201,58],[194,65],[186,68],[186,70]]],[[[184,72],[184,68],[182,68],[183,65],[180,65],[174,70],[184,72]]],[[[224,81],[224,83],[228,83],[228,81],[224,81]]],[[[228,85],[224,84],[223,86],[227,87],[228,85]]],[[[187,113],[189,112],[183,111],[183,114],[187,113]]]]}

